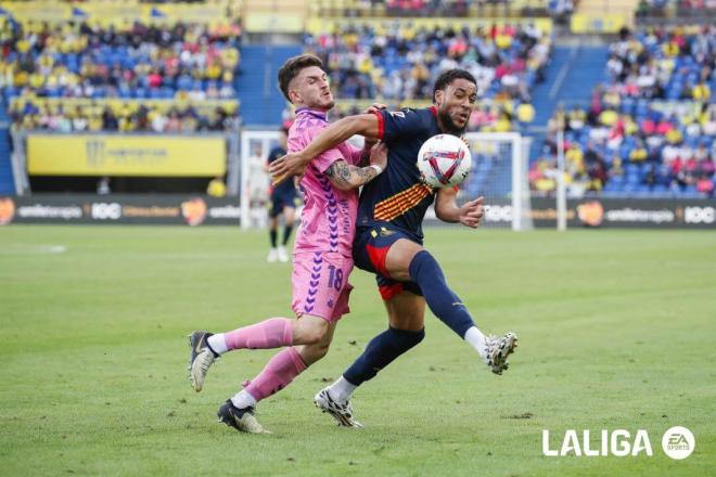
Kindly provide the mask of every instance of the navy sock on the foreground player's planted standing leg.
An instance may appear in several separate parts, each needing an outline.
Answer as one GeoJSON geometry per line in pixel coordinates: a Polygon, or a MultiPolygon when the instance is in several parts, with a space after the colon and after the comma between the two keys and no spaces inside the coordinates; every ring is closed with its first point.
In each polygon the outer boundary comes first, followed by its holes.
{"type": "Polygon", "coordinates": [[[388,327],[371,339],[363,353],[343,373],[343,377],[348,383],[360,386],[424,337],[425,330],[411,332],[388,327]]]}

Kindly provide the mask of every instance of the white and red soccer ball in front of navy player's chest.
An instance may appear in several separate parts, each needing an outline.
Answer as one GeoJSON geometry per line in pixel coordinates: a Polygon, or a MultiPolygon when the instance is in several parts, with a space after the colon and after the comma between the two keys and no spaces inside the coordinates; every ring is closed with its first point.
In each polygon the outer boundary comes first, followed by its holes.
{"type": "Polygon", "coordinates": [[[470,149],[450,134],[437,134],[425,141],[418,153],[421,180],[434,189],[461,184],[470,172],[470,149]]]}

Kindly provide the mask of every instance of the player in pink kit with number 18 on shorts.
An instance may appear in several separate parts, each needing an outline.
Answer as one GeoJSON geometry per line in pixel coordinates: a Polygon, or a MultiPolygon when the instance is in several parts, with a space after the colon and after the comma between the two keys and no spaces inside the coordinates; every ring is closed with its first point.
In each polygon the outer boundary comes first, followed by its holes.
{"type": "MultiPolygon", "coordinates": [[[[296,106],[296,119],[289,131],[290,152],[308,146],[329,125],[325,115],[334,101],[322,66],[316,56],[299,55],[279,70],[279,87],[296,106]]],[[[220,422],[238,430],[261,433],[254,414],[256,403],[286,387],[328,352],[337,321],[349,311],[358,188],[387,164],[385,147],[370,146],[367,143],[359,150],[341,143],[316,157],[301,179],[305,205],[294,245],[291,304],[296,318],[271,318],[227,333],[191,334],[189,370],[196,391],[202,390],[209,366],[227,351],[284,348],[219,408],[220,422]],[[368,160],[370,165],[360,167],[368,160]]]]}

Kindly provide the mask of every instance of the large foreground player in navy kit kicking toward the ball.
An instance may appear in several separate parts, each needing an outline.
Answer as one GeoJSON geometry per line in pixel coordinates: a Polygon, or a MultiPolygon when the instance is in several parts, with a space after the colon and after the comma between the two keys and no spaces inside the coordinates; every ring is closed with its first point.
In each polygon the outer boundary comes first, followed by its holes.
{"type": "Polygon", "coordinates": [[[464,132],[477,99],[475,85],[469,72],[447,70],[435,81],[433,106],[388,112],[375,105],[369,114],[331,125],[308,147],[282,157],[270,169],[274,179],[301,173],[312,157],[354,134],[382,140],[388,147],[387,169],[360,194],[353,254],[356,266],[375,273],[389,326],[343,376],[316,395],[316,404],[341,425],[358,424],[349,402],[355,389],[423,339],[425,304],[496,374],[507,370],[507,358],[516,347],[514,333],[485,336],[475,326],[439,265],[422,246],[422,220],[431,204],[435,203],[438,219],[470,228],[477,228],[484,215],[483,197],[459,207],[456,189],[429,188],[421,182],[417,166],[418,151],[427,139],[464,132]]]}

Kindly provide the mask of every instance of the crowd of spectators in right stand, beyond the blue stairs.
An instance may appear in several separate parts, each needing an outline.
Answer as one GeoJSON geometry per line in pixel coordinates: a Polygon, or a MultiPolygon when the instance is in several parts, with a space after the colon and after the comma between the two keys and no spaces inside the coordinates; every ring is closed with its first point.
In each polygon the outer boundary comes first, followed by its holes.
{"type": "Polygon", "coordinates": [[[713,196],[715,34],[714,26],[692,34],[680,27],[623,31],[610,49],[606,85],[594,89],[590,107],[560,109],[548,125],[546,153],[529,171],[533,190],[554,190],[562,124],[565,179],[574,196],[713,196]]]}

